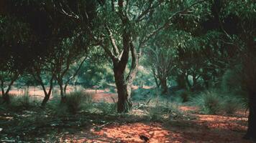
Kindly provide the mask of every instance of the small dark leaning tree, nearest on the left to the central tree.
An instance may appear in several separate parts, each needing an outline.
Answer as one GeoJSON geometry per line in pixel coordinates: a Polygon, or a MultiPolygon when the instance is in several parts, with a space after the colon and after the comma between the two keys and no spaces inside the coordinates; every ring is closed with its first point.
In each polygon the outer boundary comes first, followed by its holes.
{"type": "Polygon", "coordinates": [[[81,42],[83,41],[81,37],[84,38],[85,36],[78,35],[77,37],[73,36],[68,39],[63,39],[63,42],[54,51],[55,58],[53,62],[56,65],[55,79],[60,87],[61,102],[65,102],[65,92],[68,87],[68,83],[76,77],[81,66],[87,59],[86,54],[88,44],[81,42]],[[67,77],[70,66],[74,63],[78,64],[78,67],[70,77],[67,77]]]}

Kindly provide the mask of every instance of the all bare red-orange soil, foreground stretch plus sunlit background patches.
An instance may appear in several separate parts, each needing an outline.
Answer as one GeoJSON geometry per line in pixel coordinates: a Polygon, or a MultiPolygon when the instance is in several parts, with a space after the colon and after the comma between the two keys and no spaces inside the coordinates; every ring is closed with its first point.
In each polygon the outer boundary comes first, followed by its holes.
{"type": "MultiPolygon", "coordinates": [[[[32,90],[29,94],[42,97],[42,91],[32,90]]],[[[18,91],[12,90],[12,94],[18,91]]],[[[96,102],[116,101],[116,94],[109,94],[103,90],[87,90],[96,93],[93,99],[96,102]],[[112,99],[113,98],[113,99],[112,99]]],[[[100,131],[94,128],[82,129],[75,134],[65,134],[60,142],[144,142],[140,135],[145,135],[155,143],[168,142],[234,142],[246,143],[242,136],[247,129],[247,114],[239,112],[232,117],[220,115],[203,115],[196,107],[181,106],[180,110],[191,119],[180,119],[170,123],[135,122],[129,124],[112,123],[100,131]]],[[[248,142],[249,143],[249,142],[248,142]]]]}

